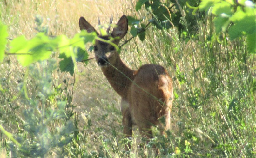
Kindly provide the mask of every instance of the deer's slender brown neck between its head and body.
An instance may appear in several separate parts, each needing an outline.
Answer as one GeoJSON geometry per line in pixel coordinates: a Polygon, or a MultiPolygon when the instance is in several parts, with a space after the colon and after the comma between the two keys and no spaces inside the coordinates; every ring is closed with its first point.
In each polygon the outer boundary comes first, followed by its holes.
{"type": "Polygon", "coordinates": [[[117,55],[116,63],[101,67],[103,74],[106,76],[110,85],[123,98],[126,98],[127,92],[135,77],[135,70],[127,67],[121,60],[119,54],[117,55]]]}

